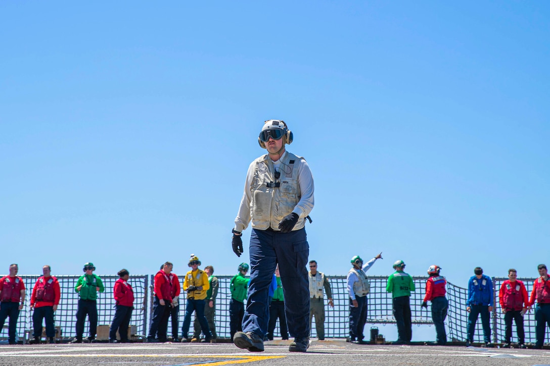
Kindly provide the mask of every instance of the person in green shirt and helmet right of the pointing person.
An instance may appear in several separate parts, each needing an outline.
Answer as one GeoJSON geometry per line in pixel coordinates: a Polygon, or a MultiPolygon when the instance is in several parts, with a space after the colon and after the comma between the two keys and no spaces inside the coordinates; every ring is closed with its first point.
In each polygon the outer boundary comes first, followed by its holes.
{"type": "Polygon", "coordinates": [[[392,293],[393,316],[397,322],[398,340],[392,344],[408,345],[412,339],[410,296],[415,287],[412,277],[403,271],[403,260],[395,262],[393,268],[395,272],[389,276],[386,286],[386,291],[392,293]]]}

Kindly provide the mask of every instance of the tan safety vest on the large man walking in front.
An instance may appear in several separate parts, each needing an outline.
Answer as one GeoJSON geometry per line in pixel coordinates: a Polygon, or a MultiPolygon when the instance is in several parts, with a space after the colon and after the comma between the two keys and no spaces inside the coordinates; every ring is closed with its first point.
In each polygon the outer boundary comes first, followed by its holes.
{"type": "MultiPolygon", "coordinates": [[[[281,161],[281,176],[275,179],[273,162],[268,154],[255,160],[254,179],[250,186],[252,204],[250,217],[252,228],[266,230],[271,228],[279,231],[278,225],[286,215],[290,214],[300,202],[300,186],[298,185],[298,167],[301,157],[287,153],[281,161]],[[279,187],[276,187],[277,183],[279,187]]],[[[305,219],[298,219],[293,231],[305,226],[305,219]]]]}

